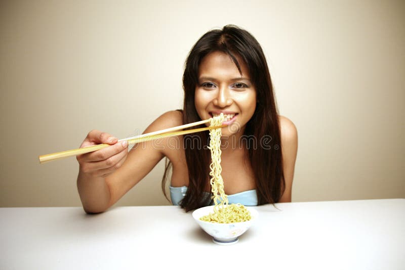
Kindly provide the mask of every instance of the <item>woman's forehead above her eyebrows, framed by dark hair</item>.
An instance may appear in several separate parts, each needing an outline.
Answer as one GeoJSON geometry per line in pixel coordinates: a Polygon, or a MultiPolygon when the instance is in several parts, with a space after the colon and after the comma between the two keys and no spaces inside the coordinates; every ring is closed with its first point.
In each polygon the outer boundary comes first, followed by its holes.
{"type": "Polygon", "coordinates": [[[232,61],[231,57],[222,52],[213,52],[203,58],[199,67],[198,75],[229,75],[233,77],[249,76],[249,70],[246,63],[238,56],[235,55],[239,63],[242,74],[237,69],[236,64],[232,61]]]}

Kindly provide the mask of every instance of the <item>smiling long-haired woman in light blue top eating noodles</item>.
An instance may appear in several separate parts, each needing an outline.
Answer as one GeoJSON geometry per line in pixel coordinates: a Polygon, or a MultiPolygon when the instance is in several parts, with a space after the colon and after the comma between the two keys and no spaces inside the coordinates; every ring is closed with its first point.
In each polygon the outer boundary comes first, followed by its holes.
{"type": "MultiPolygon", "coordinates": [[[[257,40],[232,25],[207,32],[186,60],[183,87],[183,111],[159,116],[144,132],[224,113],[229,125],[222,128],[221,165],[225,193],[234,197],[230,202],[291,202],[297,130],[292,121],[277,114],[270,74],[257,40]]],[[[208,131],[180,137],[176,148],[169,147],[173,145],[170,140],[149,141],[128,152],[126,142],[90,131],[80,147],[111,146],[77,156],[77,187],[85,211],[108,209],[164,157],[173,166],[172,202],[186,211],[209,204],[210,152],[201,147],[207,145],[208,131]]]]}

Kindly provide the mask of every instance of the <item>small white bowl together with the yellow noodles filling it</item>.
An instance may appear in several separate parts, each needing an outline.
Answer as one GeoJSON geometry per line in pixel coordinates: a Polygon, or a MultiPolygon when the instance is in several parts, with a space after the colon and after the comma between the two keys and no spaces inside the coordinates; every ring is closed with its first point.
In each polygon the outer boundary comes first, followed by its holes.
{"type": "Polygon", "coordinates": [[[201,229],[213,237],[214,243],[232,245],[252,226],[259,213],[240,204],[225,204],[202,207],[192,215],[201,229]]]}

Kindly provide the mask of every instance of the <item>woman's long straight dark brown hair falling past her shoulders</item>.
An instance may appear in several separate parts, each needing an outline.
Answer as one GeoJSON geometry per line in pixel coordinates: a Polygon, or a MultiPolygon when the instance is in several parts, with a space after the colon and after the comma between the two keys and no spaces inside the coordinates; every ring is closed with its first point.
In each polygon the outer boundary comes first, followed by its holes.
{"type": "MultiPolygon", "coordinates": [[[[198,66],[205,56],[213,52],[229,55],[240,73],[237,56],[248,67],[251,81],[256,88],[257,106],[246,125],[244,135],[253,136],[260,142],[259,147],[255,147],[254,142],[247,140],[249,160],[256,181],[258,204],[275,203],[285,190],[278,113],[266,58],[259,42],[248,31],[234,25],[226,25],[221,30],[207,32],[194,44],[187,57],[183,74],[183,124],[201,120],[194,105],[198,66]]],[[[194,133],[192,136],[199,137],[200,142],[208,143],[208,131],[194,133]]],[[[206,206],[211,200],[204,193],[210,183],[210,150],[206,147],[195,149],[194,142],[188,136],[183,137],[189,185],[180,205],[186,211],[206,206]]],[[[167,162],[162,182],[163,188],[169,167],[170,162],[167,162]]]]}

